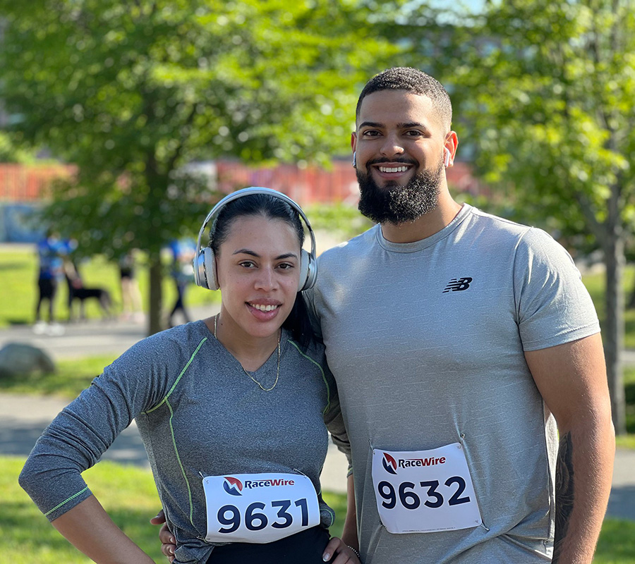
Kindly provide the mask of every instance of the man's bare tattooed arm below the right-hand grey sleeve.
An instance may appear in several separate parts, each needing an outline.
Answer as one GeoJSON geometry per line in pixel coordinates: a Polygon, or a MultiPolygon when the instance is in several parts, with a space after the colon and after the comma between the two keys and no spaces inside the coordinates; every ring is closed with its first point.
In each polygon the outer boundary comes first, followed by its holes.
{"type": "Polygon", "coordinates": [[[598,333],[525,358],[560,433],[553,563],[591,563],[615,458],[602,340],[598,333]]]}

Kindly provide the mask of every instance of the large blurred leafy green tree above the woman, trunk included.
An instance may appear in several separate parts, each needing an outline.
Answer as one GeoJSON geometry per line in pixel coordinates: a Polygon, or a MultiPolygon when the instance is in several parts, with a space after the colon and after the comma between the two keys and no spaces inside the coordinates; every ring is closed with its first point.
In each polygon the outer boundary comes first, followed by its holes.
{"type": "Polygon", "coordinates": [[[78,165],[49,217],[86,254],[150,257],[217,199],[194,160],[327,161],[360,82],[394,48],[356,1],[0,0],[0,97],[18,141],[78,165]]]}

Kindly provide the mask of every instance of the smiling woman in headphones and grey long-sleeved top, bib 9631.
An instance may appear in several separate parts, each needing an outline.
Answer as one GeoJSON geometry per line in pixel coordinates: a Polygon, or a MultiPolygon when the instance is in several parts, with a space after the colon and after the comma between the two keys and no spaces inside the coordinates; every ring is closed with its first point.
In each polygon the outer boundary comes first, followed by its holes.
{"type": "Polygon", "coordinates": [[[335,436],[344,429],[298,292],[306,251],[289,202],[266,189],[219,202],[196,279],[219,286],[220,313],[137,343],[37,441],[20,484],[97,563],[152,562],[80,476],[133,418],[176,537],[174,562],[317,563],[328,553],[358,563],[328,539],[325,422],[335,436]]]}

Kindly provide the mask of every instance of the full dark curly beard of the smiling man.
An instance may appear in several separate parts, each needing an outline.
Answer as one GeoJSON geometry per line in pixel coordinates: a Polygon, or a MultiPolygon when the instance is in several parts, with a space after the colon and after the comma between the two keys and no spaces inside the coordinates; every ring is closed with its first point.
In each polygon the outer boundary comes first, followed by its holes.
{"type": "MultiPolygon", "coordinates": [[[[376,164],[372,161],[370,164],[376,164]]],[[[359,211],[377,223],[405,223],[432,212],[439,203],[441,173],[440,162],[435,171],[423,171],[401,186],[394,181],[380,188],[368,168],[367,173],[357,169],[361,197],[359,211]]]]}

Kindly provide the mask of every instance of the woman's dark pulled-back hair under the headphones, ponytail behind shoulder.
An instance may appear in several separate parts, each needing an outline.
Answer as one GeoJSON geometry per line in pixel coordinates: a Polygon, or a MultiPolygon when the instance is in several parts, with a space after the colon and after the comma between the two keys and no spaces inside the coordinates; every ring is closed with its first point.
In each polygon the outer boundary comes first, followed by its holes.
{"type": "MultiPolygon", "coordinates": [[[[212,228],[210,228],[210,247],[212,247],[214,255],[218,254],[220,245],[229,235],[231,224],[239,217],[244,216],[264,216],[267,219],[286,221],[296,231],[300,248],[302,248],[304,228],[300,214],[278,197],[269,194],[250,194],[226,204],[214,219],[212,228]]],[[[297,341],[303,350],[306,350],[315,341],[315,333],[313,333],[309,312],[301,292],[296,294],[294,307],[282,326],[291,331],[294,341],[297,341]]]]}

